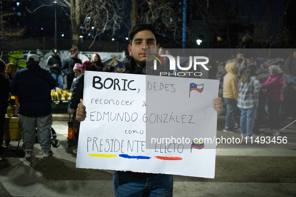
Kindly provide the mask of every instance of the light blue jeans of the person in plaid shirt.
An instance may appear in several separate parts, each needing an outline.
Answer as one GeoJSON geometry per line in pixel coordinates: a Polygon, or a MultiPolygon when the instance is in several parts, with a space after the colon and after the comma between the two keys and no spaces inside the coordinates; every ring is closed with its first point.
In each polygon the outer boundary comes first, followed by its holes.
{"type": "Polygon", "coordinates": [[[240,109],[240,133],[252,136],[256,118],[257,106],[248,109],[240,109]]]}

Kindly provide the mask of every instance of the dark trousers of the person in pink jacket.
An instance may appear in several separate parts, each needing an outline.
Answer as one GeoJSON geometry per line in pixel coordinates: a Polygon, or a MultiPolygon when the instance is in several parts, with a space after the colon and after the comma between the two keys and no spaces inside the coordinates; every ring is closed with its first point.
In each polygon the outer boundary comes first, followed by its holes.
{"type": "Polygon", "coordinates": [[[268,101],[269,128],[278,130],[280,127],[280,108],[282,101],[268,101]]]}

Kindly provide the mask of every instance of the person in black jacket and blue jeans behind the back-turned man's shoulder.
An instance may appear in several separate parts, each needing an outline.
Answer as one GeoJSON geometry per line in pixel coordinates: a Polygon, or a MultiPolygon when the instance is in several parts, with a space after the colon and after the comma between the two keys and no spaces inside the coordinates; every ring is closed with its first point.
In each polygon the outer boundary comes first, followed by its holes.
{"type": "Polygon", "coordinates": [[[55,80],[58,80],[59,88],[63,89],[63,76],[62,76],[62,63],[61,58],[58,55],[58,50],[56,48],[53,49],[53,54],[50,58],[47,59],[46,66],[50,67],[50,73],[54,77],[55,80]]]}

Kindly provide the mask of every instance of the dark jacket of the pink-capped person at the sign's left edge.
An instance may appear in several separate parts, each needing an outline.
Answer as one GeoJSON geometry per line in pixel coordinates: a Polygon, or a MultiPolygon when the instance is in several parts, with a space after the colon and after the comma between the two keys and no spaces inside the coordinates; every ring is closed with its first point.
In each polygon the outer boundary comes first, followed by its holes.
{"type": "Polygon", "coordinates": [[[83,99],[83,87],[84,87],[84,73],[80,74],[72,84],[73,91],[70,101],[70,108],[77,109],[77,105],[80,103],[80,98],[83,99]]]}

